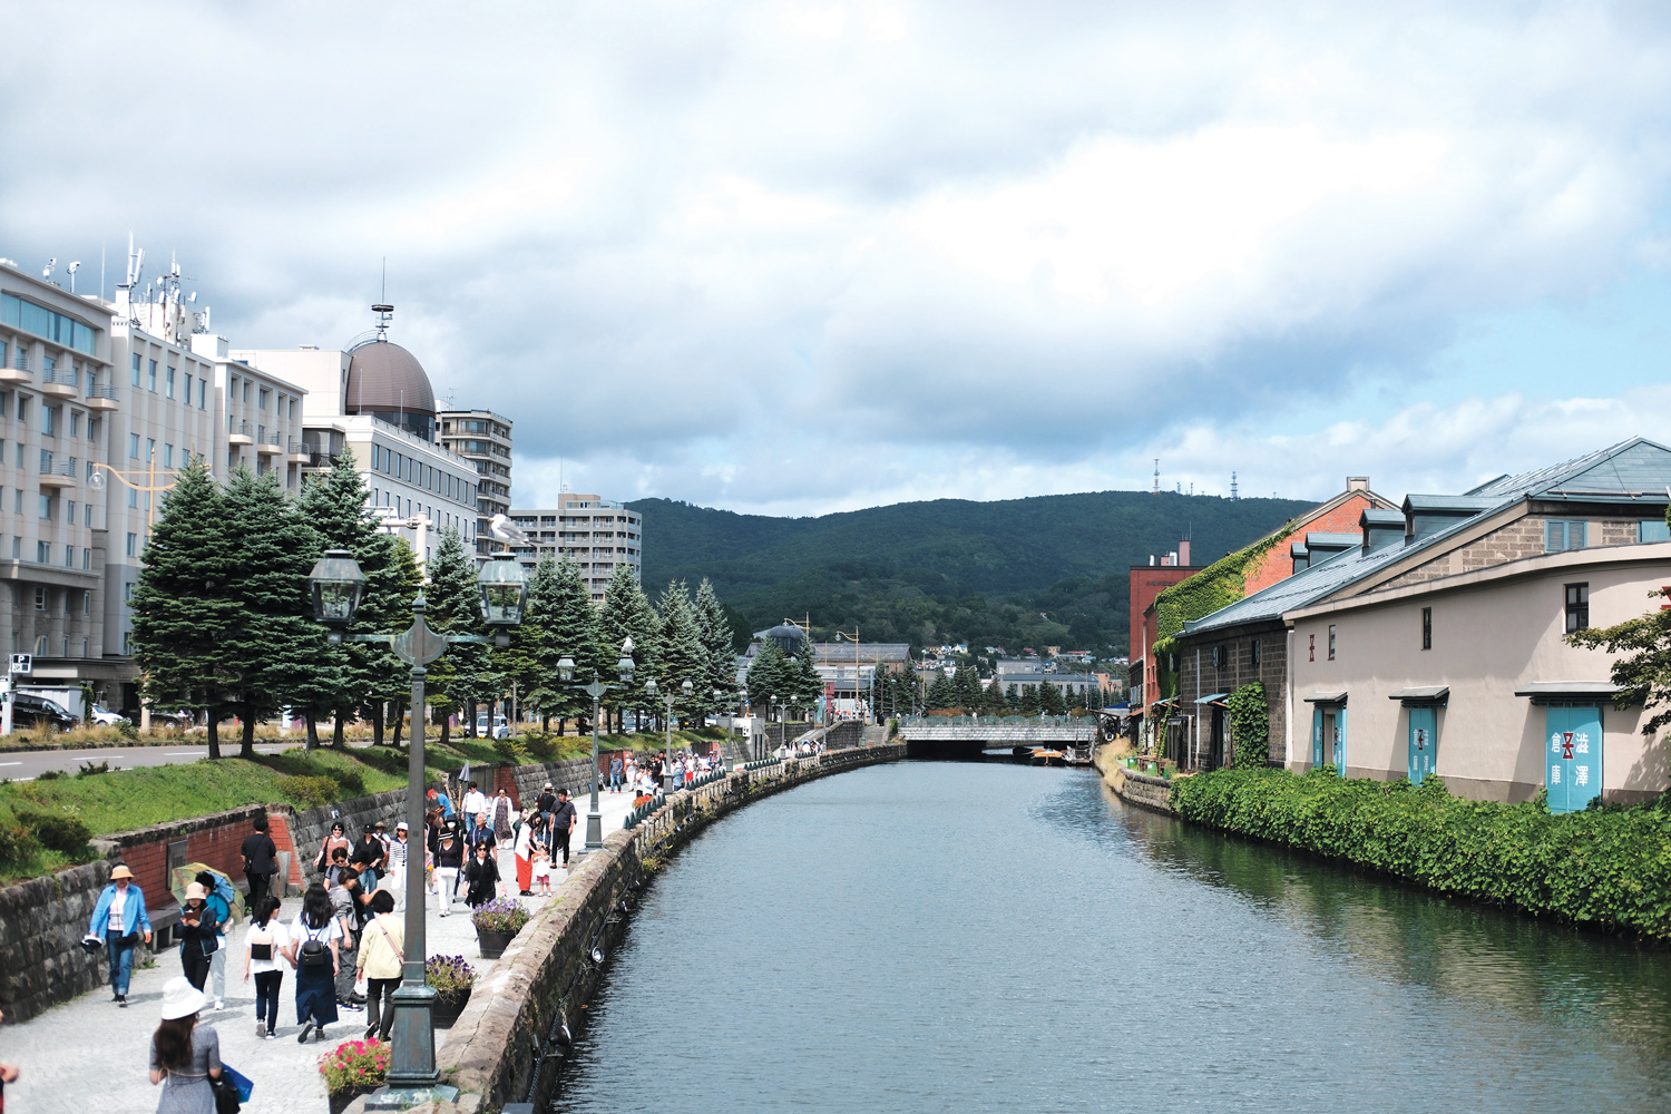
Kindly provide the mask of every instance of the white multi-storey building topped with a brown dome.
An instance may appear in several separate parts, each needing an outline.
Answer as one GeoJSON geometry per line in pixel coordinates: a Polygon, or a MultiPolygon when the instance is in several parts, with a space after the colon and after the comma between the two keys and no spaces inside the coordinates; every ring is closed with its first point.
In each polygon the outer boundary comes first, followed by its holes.
{"type": "Polygon", "coordinates": [[[449,526],[475,546],[476,464],[436,443],[429,376],[383,329],[349,349],[239,349],[232,357],[301,384],[304,471],[324,471],[353,453],[384,528],[406,538],[419,561],[449,526]]]}

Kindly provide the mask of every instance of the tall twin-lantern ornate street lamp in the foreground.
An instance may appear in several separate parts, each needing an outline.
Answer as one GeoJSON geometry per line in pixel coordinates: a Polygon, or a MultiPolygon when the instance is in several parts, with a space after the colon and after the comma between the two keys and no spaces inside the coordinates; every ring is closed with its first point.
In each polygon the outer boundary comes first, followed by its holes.
{"type": "MultiPolygon", "coordinates": [[[[510,645],[510,630],[521,621],[526,585],[521,565],[511,554],[496,554],[476,575],[481,598],[481,621],[496,628],[488,635],[443,635],[424,621],[423,593],[413,600],[413,625],[399,635],[344,635],[354,623],[366,591],[366,575],[348,549],[329,549],[307,578],[314,620],[331,628],[331,641],[388,643],[394,656],[411,666],[411,748],[406,757],[406,827],[423,838],[424,802],[424,666],[455,643],[510,645]]],[[[414,847],[416,850],[416,847],[414,847]]],[[[388,1086],[366,1101],[368,1111],[401,1111],[431,1099],[451,1102],[458,1087],[443,1086],[434,1066],[434,990],[424,982],[424,877],[423,855],[406,857],[406,954],[401,962],[401,985],[394,992],[393,1049],[388,1086]]]]}

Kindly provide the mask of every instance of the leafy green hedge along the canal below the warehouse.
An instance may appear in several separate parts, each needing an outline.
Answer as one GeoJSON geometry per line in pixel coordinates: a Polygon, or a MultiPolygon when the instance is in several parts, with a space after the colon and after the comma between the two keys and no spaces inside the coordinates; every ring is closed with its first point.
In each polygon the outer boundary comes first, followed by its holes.
{"type": "Polygon", "coordinates": [[[1185,820],[1343,858],[1442,894],[1671,939],[1671,793],[1552,815],[1542,802],[1450,797],[1440,778],[1335,777],[1333,767],[1216,770],[1171,783],[1185,820]]]}

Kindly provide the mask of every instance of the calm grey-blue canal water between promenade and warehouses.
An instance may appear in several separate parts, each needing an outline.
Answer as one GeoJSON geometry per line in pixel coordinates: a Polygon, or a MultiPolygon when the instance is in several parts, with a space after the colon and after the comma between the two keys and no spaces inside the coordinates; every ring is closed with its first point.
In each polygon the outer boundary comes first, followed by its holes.
{"type": "Polygon", "coordinates": [[[555,1111],[1671,1111],[1671,950],[896,763],[657,879],[555,1111]]]}

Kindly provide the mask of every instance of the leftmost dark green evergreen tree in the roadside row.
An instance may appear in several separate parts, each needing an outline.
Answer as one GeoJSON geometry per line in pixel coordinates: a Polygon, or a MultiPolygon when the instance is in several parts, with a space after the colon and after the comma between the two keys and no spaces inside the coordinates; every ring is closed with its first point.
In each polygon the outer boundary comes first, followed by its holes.
{"type": "Polygon", "coordinates": [[[239,621],[226,503],[202,458],[162,503],[134,590],[134,656],[152,706],[209,717],[209,757],[221,757],[219,718],[231,703],[226,640],[239,621]]]}

